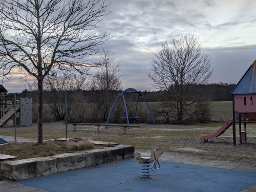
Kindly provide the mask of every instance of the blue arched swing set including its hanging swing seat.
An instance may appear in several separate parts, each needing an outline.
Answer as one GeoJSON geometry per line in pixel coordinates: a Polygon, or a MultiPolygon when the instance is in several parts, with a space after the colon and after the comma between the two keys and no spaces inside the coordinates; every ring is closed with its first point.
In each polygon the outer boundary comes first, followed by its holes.
{"type": "Polygon", "coordinates": [[[115,101],[113,102],[112,104],[112,107],[111,107],[111,110],[110,110],[110,113],[109,113],[109,116],[108,116],[108,120],[106,121],[106,125],[109,124],[109,120],[110,120],[110,116],[111,116],[111,113],[114,109],[114,106],[116,104],[116,101],[119,97],[122,97],[123,99],[123,105],[124,105],[124,111],[125,111],[125,114],[124,114],[124,119],[126,119],[126,122],[127,122],[127,126],[130,126],[130,121],[135,123],[136,120],[139,119],[138,116],[138,102],[139,102],[139,97],[142,97],[143,100],[145,101],[146,105],[147,105],[147,108],[148,110],[150,111],[150,114],[151,114],[151,118],[152,118],[152,121],[153,123],[155,124],[155,119],[154,119],[154,116],[153,116],[153,113],[151,111],[151,108],[150,108],[150,105],[148,105],[147,101],[146,101],[146,98],[144,97],[144,95],[141,93],[141,91],[137,91],[133,88],[129,88],[129,89],[126,89],[126,90],[120,90],[119,93],[117,94],[117,97],[115,99],[115,101]],[[124,93],[134,93],[134,94],[137,94],[137,98],[136,98],[136,103],[134,105],[134,108],[133,110],[131,111],[129,106],[126,104],[126,101],[125,101],[125,97],[124,97],[124,93]]]}

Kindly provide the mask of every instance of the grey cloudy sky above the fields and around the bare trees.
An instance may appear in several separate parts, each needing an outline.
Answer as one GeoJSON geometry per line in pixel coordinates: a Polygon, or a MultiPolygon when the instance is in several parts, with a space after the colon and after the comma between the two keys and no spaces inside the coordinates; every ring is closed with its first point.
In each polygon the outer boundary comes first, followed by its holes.
{"type": "MultiPolygon", "coordinates": [[[[107,1],[108,3],[109,1],[107,1]]],[[[194,33],[211,58],[211,82],[237,83],[256,59],[256,1],[112,0],[99,31],[112,36],[104,49],[119,63],[123,88],[154,90],[147,71],[161,42],[194,33]]],[[[24,81],[6,81],[9,92],[24,81]]]]}

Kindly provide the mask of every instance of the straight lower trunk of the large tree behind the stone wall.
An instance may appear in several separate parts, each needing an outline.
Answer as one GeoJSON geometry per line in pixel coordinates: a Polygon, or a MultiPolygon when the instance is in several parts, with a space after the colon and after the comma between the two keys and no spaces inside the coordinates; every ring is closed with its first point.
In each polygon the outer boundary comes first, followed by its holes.
{"type": "Polygon", "coordinates": [[[37,143],[42,144],[42,80],[37,79],[38,86],[38,119],[37,119],[37,143]]]}

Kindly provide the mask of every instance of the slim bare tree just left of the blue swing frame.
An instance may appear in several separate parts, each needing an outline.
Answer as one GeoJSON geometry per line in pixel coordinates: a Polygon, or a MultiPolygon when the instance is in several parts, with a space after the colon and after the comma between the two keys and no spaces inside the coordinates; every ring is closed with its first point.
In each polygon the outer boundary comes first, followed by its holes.
{"type": "Polygon", "coordinates": [[[99,93],[99,108],[101,110],[101,120],[105,121],[111,106],[112,97],[115,96],[115,91],[121,89],[121,80],[119,74],[119,66],[113,63],[114,57],[103,50],[101,55],[102,67],[97,69],[96,74],[92,79],[92,88],[98,90],[99,93]]]}

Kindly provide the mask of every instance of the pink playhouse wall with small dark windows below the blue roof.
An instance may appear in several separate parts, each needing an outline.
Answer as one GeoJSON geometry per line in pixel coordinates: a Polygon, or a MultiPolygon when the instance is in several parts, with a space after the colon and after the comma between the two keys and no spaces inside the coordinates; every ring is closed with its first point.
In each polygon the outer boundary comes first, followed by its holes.
{"type": "Polygon", "coordinates": [[[239,113],[256,113],[256,94],[234,95],[234,110],[239,113]]]}

